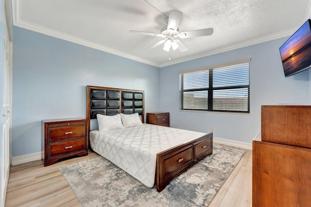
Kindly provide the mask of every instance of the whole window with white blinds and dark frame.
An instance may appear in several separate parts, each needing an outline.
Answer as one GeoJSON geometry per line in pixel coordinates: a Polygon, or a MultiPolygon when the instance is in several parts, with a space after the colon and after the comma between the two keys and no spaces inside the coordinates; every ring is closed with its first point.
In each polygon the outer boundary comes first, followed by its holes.
{"type": "Polygon", "coordinates": [[[179,72],[181,110],[249,113],[250,59],[179,72]]]}

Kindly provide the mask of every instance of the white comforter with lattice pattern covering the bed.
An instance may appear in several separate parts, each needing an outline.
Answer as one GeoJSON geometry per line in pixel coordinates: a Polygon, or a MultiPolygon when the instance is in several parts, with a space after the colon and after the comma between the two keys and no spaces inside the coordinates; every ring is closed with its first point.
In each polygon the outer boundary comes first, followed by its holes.
{"type": "Polygon", "coordinates": [[[96,153],[152,188],[156,154],[203,135],[205,133],[143,124],[106,132],[94,130],[89,139],[96,153]]]}

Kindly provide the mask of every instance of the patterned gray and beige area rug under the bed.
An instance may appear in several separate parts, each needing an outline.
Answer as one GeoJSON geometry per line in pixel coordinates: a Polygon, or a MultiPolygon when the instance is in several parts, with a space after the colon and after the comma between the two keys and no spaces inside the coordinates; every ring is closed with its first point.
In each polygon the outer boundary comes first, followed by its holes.
{"type": "Polygon", "coordinates": [[[208,155],[161,192],[148,188],[102,156],[60,168],[84,207],[208,206],[244,151],[213,146],[208,155]]]}

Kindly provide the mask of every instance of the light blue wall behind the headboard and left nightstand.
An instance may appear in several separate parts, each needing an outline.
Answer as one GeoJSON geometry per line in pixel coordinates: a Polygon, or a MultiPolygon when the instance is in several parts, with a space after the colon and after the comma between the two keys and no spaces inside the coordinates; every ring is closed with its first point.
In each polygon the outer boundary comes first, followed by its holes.
{"type": "Polygon", "coordinates": [[[14,27],[12,156],[41,152],[41,120],[86,117],[86,86],[145,91],[159,107],[159,69],[14,27]]]}

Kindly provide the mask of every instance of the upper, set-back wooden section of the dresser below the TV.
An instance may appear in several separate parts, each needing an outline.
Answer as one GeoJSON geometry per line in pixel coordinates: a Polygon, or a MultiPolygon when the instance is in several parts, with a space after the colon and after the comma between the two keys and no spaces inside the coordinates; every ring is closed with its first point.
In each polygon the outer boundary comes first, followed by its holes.
{"type": "Polygon", "coordinates": [[[311,149],[310,105],[262,105],[261,140],[311,149]]]}

